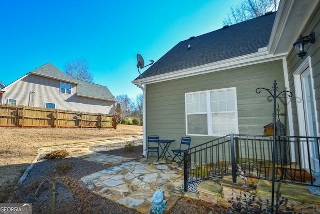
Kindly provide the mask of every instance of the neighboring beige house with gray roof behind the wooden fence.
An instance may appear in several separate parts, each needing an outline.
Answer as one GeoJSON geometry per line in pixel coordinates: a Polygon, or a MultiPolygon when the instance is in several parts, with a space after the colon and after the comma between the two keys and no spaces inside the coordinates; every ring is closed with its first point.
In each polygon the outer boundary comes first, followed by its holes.
{"type": "Polygon", "coordinates": [[[115,98],[106,86],[77,80],[50,63],[0,89],[1,103],[114,114],[115,98]]]}

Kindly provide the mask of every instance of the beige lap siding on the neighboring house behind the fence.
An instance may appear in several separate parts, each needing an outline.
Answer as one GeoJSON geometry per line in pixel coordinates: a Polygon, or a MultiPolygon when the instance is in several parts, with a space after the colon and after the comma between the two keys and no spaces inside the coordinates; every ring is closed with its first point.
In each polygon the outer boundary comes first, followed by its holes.
{"type": "Polygon", "coordinates": [[[28,75],[20,81],[9,86],[4,93],[4,102],[8,98],[16,99],[18,105],[29,104],[29,93],[31,94],[30,106],[45,107],[45,102],[55,103],[55,108],[83,111],[92,113],[113,114],[112,103],[85,97],[76,96],[76,85],[71,84],[71,94],[59,93],[59,80],[53,80],[36,75],[28,75]]]}

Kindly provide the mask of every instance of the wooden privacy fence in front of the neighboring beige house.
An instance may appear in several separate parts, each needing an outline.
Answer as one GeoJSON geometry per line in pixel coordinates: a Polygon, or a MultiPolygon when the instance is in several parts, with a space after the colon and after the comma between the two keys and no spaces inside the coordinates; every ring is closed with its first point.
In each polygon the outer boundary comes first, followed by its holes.
{"type": "Polygon", "coordinates": [[[0,104],[2,127],[116,128],[115,116],[0,104]]]}

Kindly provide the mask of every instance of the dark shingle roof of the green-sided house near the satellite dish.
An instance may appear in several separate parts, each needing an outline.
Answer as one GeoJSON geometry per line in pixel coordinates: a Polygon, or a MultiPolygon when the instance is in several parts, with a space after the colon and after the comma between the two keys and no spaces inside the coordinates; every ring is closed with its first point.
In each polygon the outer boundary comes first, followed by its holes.
{"type": "Polygon", "coordinates": [[[145,70],[142,78],[258,52],[259,48],[266,47],[269,42],[275,14],[181,41],[145,70]]]}

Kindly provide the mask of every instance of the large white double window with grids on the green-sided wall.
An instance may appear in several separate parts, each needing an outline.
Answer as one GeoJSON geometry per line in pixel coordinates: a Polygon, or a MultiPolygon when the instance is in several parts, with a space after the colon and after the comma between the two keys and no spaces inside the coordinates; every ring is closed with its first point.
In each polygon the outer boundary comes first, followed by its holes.
{"type": "Polygon", "coordinates": [[[235,88],[186,93],[185,112],[189,135],[238,132],[235,88]]]}

